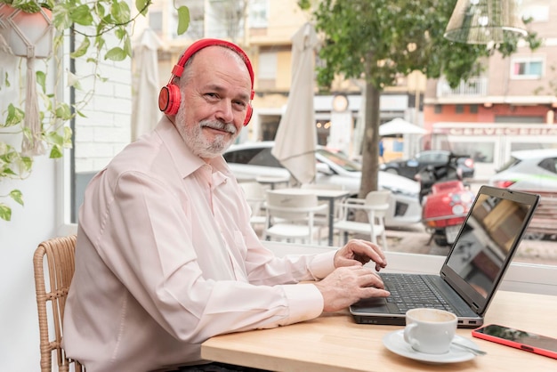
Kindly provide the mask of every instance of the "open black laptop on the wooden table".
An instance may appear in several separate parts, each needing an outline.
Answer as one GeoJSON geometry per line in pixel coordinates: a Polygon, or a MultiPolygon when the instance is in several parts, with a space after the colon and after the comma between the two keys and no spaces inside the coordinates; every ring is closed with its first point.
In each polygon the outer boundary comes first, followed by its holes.
{"type": "Polygon", "coordinates": [[[360,324],[404,325],[408,309],[433,307],[456,313],[459,328],[479,327],[539,198],[481,186],[440,274],[382,272],[391,296],[352,304],[352,316],[360,324]]]}

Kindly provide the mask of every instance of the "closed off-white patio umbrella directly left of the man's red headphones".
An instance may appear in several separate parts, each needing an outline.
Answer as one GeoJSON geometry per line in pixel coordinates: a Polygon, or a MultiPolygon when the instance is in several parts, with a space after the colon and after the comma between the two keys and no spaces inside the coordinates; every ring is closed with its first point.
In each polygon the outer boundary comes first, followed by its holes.
{"type": "Polygon", "coordinates": [[[132,141],[153,129],[162,115],[158,109],[157,49],[160,46],[162,42],[155,31],[145,28],[133,49],[132,141]]]}

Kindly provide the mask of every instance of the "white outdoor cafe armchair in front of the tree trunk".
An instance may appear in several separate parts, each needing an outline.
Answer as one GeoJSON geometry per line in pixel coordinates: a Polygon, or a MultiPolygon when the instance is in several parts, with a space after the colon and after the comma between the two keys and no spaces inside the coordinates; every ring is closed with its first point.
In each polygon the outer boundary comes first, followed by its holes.
{"type": "Polygon", "coordinates": [[[377,244],[381,236],[383,250],[387,250],[384,217],[389,209],[390,190],[376,190],[367,194],[366,198],[347,198],[338,203],[341,218],[335,221],[335,230],[344,235],[344,244],[349,233],[368,234],[372,243],[377,244]],[[367,214],[367,222],[360,222],[359,212],[367,214]]]}

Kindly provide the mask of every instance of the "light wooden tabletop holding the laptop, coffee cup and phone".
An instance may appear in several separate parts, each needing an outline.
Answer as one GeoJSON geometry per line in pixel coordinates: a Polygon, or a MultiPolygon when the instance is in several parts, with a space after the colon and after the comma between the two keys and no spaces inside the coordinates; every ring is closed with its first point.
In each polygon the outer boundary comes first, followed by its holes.
{"type": "MultiPolygon", "coordinates": [[[[557,337],[555,311],[557,296],[499,291],[486,324],[557,337]]],[[[287,327],[216,336],[201,346],[201,355],[206,360],[293,372],[557,370],[557,360],[472,338],[470,329],[458,329],[457,334],[471,339],[488,355],[448,364],[411,360],[383,345],[383,336],[398,329],[402,327],[359,325],[347,311],[341,311],[287,327]]]]}

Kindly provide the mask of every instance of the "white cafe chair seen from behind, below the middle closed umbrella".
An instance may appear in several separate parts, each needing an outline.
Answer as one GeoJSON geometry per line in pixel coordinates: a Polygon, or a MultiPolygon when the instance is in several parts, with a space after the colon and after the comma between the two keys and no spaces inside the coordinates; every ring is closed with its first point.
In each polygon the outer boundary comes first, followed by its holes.
{"type": "MultiPolygon", "coordinates": [[[[315,214],[327,212],[328,206],[319,204],[311,192],[287,193],[267,190],[266,216],[263,239],[313,244],[320,229],[315,225],[315,214]]],[[[318,237],[318,240],[320,236],[318,237]]]]}

